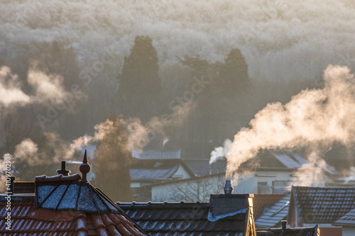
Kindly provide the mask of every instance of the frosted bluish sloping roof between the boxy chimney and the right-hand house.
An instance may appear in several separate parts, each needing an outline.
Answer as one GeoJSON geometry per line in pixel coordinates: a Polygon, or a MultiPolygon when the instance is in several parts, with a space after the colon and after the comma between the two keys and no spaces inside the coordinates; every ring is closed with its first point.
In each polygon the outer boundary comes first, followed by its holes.
{"type": "Polygon", "coordinates": [[[275,203],[266,213],[260,215],[255,221],[256,227],[278,227],[280,221],[288,216],[288,207],[290,205],[290,195],[284,196],[275,203]]]}

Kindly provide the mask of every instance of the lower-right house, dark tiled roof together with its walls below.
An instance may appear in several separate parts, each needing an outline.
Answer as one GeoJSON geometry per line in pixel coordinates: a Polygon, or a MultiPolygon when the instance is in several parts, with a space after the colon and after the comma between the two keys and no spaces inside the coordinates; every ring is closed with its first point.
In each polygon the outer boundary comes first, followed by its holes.
{"type": "Polygon", "coordinates": [[[354,187],[293,186],[288,221],[291,227],[318,224],[323,236],[341,236],[336,222],[354,208],[354,187]]]}

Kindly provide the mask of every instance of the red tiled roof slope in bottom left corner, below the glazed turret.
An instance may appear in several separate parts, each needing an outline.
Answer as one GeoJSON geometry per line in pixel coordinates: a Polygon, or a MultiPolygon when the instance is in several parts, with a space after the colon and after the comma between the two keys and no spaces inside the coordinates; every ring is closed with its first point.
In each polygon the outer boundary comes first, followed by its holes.
{"type": "Polygon", "coordinates": [[[6,203],[0,203],[0,235],[143,235],[124,215],[35,209],[33,202],[11,202],[11,230],[6,230],[6,203]]]}

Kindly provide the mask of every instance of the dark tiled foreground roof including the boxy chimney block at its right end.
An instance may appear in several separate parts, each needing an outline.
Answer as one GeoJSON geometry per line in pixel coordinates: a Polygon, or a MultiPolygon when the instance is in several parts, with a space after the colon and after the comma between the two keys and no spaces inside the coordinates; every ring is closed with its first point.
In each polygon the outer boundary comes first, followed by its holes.
{"type": "Polygon", "coordinates": [[[149,235],[255,236],[253,194],[216,194],[209,203],[117,203],[149,235]]]}

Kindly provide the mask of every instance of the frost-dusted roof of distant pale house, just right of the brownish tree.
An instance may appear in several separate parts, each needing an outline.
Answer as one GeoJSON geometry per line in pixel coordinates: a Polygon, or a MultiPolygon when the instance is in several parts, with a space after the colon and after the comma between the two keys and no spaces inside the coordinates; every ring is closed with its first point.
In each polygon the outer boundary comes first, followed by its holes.
{"type": "Polygon", "coordinates": [[[172,179],[180,165],[194,176],[182,159],[133,159],[129,174],[132,181],[167,180],[172,179]]]}

